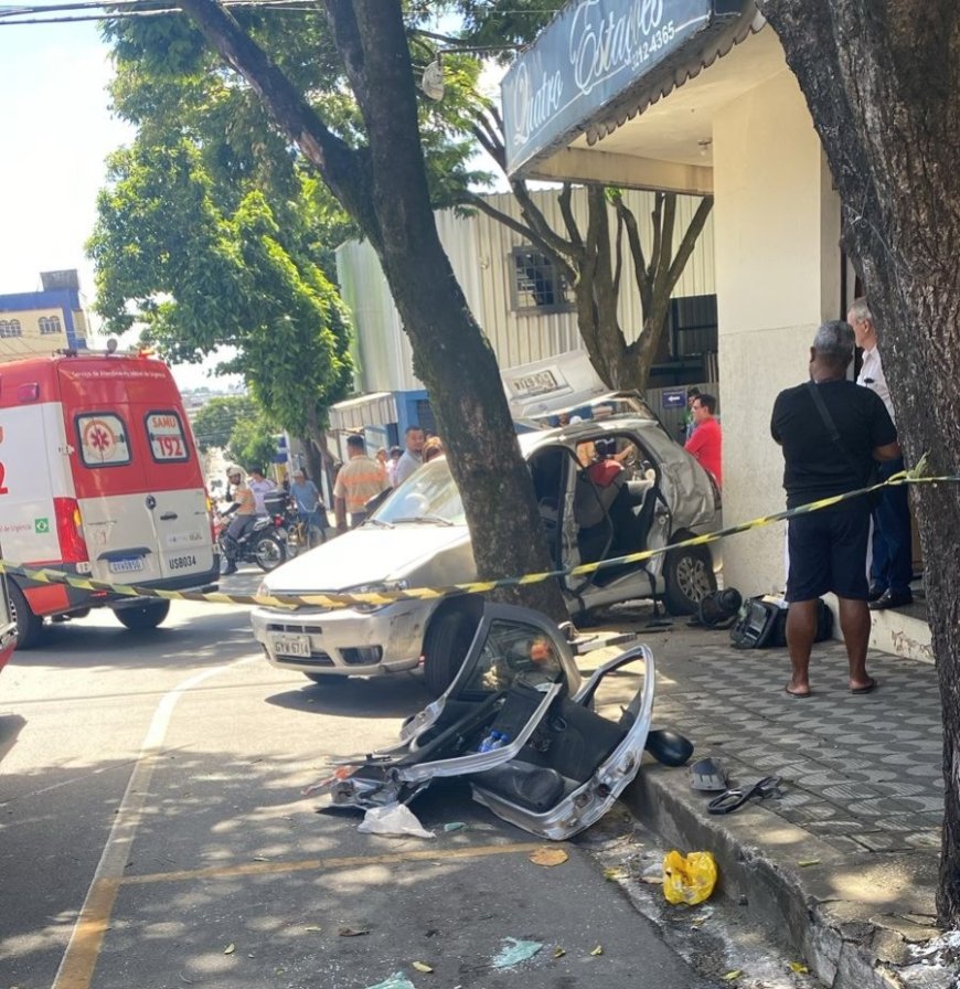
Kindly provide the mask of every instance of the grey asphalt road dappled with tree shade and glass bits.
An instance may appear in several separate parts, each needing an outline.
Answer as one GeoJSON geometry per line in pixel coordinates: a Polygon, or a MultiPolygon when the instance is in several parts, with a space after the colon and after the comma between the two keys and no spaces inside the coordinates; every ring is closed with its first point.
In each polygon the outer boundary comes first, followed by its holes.
{"type": "Polygon", "coordinates": [[[703,986],[584,842],[536,865],[543,842],[457,785],[414,804],[433,840],[302,796],[427,700],[413,676],[273,670],[243,608],[54,626],[0,677],[0,986],[703,986]],[[499,968],[511,938],[542,947],[499,968]]]}

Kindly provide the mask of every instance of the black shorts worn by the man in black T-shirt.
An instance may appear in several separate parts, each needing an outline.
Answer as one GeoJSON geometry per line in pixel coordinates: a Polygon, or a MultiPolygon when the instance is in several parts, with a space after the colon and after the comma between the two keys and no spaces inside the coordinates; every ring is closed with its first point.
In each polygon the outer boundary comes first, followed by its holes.
{"type": "Polygon", "coordinates": [[[810,512],[787,523],[790,573],[787,600],[813,600],[832,591],[866,600],[870,513],[858,508],[810,512]]]}

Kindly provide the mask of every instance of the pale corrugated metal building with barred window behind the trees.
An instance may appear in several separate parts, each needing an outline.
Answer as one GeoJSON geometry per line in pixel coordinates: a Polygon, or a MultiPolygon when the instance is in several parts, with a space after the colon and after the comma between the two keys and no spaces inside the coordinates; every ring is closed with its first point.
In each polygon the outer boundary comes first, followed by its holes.
{"type": "MultiPolygon", "coordinates": [[[[653,193],[626,190],[623,194],[649,244],[653,193]]],[[[553,228],[563,233],[566,225],[557,191],[537,190],[532,196],[553,228]]],[[[484,198],[501,213],[523,222],[512,193],[488,193],[484,198]]],[[[674,246],[698,203],[698,196],[679,196],[674,246]]],[[[574,190],[572,209],[580,230],[586,231],[587,196],[583,188],[574,190]]],[[[502,370],[583,348],[574,295],[548,257],[487,213],[478,211],[465,216],[455,210],[442,210],[435,217],[440,242],[470,310],[490,340],[502,370]]],[[[615,236],[612,216],[610,226],[615,236]]],[[[625,265],[618,316],[628,341],[632,341],[642,329],[643,313],[629,262],[625,260],[625,265]]],[[[349,241],[341,245],[337,251],[337,274],[343,300],[353,316],[353,358],[358,368],[358,395],[334,405],[330,412],[331,428],[340,444],[349,432],[363,430],[367,445],[375,449],[403,446],[401,438],[410,424],[436,430],[429,396],[414,374],[409,339],[370,242],[349,241]]],[[[679,390],[685,408],[685,385],[715,382],[716,341],[711,216],[673,294],[670,326],[651,371],[650,386],[654,392],[648,397],[652,404],[661,405],[660,391],[679,390]]],[[[341,451],[341,456],[345,453],[341,451]]]]}

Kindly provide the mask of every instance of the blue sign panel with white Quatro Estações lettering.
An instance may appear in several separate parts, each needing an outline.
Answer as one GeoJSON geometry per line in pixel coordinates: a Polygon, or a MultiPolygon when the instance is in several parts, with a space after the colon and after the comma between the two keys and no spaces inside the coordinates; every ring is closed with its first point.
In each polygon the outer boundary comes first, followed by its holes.
{"type": "Polygon", "coordinates": [[[742,0],[577,0],[518,56],[501,84],[506,171],[562,147],[742,0]]]}

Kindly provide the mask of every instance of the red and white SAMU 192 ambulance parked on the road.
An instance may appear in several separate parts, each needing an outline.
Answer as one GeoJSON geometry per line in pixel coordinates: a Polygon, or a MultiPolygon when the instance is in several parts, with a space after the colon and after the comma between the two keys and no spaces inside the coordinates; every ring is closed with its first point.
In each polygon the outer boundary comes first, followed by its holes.
{"type": "MultiPolygon", "coordinates": [[[[170,369],[147,354],[61,351],[0,364],[0,545],[9,565],[110,585],[216,588],[196,445],[170,369]]],[[[44,620],[111,608],[156,628],[168,600],[8,574],[17,647],[44,620]]]]}

